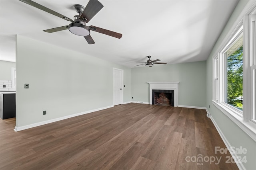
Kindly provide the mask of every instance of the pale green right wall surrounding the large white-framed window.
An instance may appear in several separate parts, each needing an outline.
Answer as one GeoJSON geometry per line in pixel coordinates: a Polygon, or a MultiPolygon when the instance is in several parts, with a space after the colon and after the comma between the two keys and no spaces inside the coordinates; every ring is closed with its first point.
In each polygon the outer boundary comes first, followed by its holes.
{"type": "Polygon", "coordinates": [[[226,137],[227,141],[230,143],[232,147],[239,148],[240,146],[246,148],[248,152],[246,154],[240,154],[240,156],[246,156],[247,163],[244,163],[244,166],[247,170],[255,170],[256,169],[256,142],[250,138],[240,127],[238,127],[232,120],[230,120],[222,111],[220,111],[217,107],[212,104],[212,57],[220,44],[222,43],[224,37],[230,31],[232,25],[235,20],[238,18],[240,12],[244,8],[248,1],[240,0],[236,9],[234,10],[230,20],[226,24],[226,27],[222,31],[217,43],[215,44],[212,52],[210,53],[207,61],[207,93],[206,93],[206,107],[210,111],[212,117],[216,121],[218,127],[226,137]],[[209,108],[210,105],[210,108],[209,108]]]}

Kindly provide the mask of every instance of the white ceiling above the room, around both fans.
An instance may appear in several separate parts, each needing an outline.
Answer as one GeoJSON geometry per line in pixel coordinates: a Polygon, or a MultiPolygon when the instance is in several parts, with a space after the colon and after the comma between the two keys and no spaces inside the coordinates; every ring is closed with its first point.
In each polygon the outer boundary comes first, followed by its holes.
{"type": "MultiPolygon", "coordinates": [[[[64,16],[77,15],[74,4],[88,0],[34,0],[64,16]]],[[[167,64],[204,61],[238,0],[100,0],[104,8],[88,22],[122,33],[117,39],[91,31],[95,44],[68,30],[42,30],[68,25],[18,0],[0,0],[1,60],[15,61],[15,35],[24,35],[110,62],[134,67],[136,61],[160,59],[167,64]]]]}

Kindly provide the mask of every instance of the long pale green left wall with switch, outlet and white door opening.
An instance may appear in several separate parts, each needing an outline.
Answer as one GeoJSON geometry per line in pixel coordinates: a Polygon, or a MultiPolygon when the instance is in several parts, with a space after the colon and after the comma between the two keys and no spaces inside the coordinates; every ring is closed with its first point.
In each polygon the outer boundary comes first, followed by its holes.
{"type": "Polygon", "coordinates": [[[124,70],[128,102],[131,68],[17,35],[16,127],[112,106],[113,68],[124,70]]]}

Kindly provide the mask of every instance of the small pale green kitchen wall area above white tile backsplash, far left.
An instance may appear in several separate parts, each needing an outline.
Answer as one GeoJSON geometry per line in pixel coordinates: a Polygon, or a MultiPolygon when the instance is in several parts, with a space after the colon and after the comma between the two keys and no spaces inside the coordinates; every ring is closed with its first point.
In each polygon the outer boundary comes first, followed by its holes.
{"type": "Polygon", "coordinates": [[[0,80],[12,80],[12,67],[15,67],[14,62],[0,60],[0,80]]]}

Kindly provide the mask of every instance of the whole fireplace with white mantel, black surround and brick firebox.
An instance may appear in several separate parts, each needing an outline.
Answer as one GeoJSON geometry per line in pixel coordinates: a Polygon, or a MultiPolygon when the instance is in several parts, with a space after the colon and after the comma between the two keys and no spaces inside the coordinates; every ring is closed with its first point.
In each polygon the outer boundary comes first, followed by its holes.
{"type": "Polygon", "coordinates": [[[148,84],[149,104],[170,104],[170,106],[178,106],[179,82],[148,82],[148,84]],[[155,101],[155,95],[158,101],[155,101]]]}

